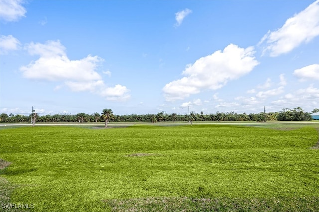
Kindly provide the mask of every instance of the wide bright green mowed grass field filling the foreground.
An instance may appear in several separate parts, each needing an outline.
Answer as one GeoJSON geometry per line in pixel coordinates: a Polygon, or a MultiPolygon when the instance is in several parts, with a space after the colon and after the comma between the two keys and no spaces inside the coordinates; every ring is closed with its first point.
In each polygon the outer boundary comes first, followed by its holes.
{"type": "Polygon", "coordinates": [[[319,211],[316,127],[1,129],[1,182],[31,211],[319,211]]]}

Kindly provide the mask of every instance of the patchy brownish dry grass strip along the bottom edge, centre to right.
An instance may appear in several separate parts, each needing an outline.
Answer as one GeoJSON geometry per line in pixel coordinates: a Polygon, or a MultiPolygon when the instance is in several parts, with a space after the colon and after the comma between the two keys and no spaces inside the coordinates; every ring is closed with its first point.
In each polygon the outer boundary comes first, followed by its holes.
{"type": "Polygon", "coordinates": [[[273,198],[191,198],[151,197],[103,200],[114,212],[193,212],[193,211],[318,211],[319,197],[273,198]]]}

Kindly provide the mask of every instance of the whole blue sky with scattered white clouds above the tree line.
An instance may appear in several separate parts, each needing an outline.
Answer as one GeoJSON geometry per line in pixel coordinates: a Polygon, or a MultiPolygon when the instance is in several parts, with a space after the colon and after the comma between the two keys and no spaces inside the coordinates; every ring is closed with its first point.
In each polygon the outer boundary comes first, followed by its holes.
{"type": "Polygon", "coordinates": [[[1,0],[0,18],[0,113],[319,108],[319,0],[1,0]]]}

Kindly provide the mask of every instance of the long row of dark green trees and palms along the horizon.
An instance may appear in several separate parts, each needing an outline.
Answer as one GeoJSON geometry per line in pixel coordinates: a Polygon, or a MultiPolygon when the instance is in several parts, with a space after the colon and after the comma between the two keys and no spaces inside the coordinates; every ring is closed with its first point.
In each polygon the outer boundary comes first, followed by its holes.
{"type": "MultiPolygon", "coordinates": [[[[311,113],[319,112],[319,109],[313,109],[311,113]]],[[[304,112],[302,108],[294,109],[284,108],[280,112],[260,112],[260,113],[242,113],[236,112],[216,112],[215,114],[204,114],[203,112],[190,114],[167,114],[166,112],[158,112],[157,114],[130,114],[115,115],[111,109],[103,109],[102,113],[95,112],[93,114],[48,114],[36,115],[36,122],[54,123],[54,122],[163,122],[163,121],[310,121],[311,113],[304,112]],[[106,118],[107,117],[107,118],[106,118]],[[107,119],[107,121],[106,121],[107,119]]],[[[19,123],[31,122],[32,114],[6,114],[0,115],[1,123],[19,123]]]]}

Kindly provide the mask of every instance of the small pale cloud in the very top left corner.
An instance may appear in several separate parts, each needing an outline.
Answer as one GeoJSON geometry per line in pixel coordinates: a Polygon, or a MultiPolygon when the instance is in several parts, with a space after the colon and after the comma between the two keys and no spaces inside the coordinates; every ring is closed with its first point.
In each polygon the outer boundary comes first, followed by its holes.
{"type": "Polygon", "coordinates": [[[5,21],[18,21],[25,17],[26,9],[22,0],[0,0],[0,17],[5,21]]]}

